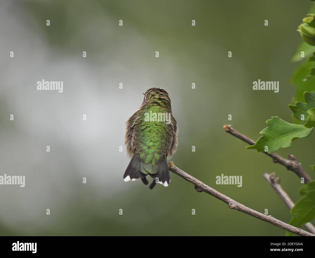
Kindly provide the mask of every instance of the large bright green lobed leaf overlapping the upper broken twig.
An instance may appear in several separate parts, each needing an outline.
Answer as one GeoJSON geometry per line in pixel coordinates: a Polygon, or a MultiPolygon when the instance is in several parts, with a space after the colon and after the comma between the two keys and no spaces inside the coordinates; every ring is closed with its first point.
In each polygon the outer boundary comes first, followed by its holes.
{"type": "Polygon", "coordinates": [[[278,151],[280,148],[291,146],[292,141],[297,138],[304,138],[312,133],[313,128],[306,128],[301,124],[285,122],[278,117],[272,117],[266,121],[268,127],[263,129],[261,136],[255,145],[247,146],[247,149],[256,149],[258,152],[265,152],[266,146],[268,153],[278,151]]]}

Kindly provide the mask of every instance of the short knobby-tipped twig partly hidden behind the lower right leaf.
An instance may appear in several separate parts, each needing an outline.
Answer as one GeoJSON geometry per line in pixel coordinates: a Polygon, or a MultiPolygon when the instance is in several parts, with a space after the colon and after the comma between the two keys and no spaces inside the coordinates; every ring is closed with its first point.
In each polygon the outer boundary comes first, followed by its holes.
{"type": "MultiPolygon", "coordinates": [[[[280,178],[276,176],[276,173],[271,174],[264,174],[264,178],[266,181],[272,186],[272,188],[278,193],[280,198],[284,201],[284,203],[289,207],[289,209],[292,209],[295,205],[294,202],[291,200],[289,195],[283,190],[283,188],[280,186],[280,178]]],[[[312,223],[308,222],[304,225],[306,229],[315,234],[315,227],[312,223]]]]}

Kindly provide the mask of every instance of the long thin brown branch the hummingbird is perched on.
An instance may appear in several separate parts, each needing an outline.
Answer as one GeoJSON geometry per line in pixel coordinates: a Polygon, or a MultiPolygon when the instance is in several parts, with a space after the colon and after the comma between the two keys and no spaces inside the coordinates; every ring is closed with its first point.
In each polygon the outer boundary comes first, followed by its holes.
{"type": "Polygon", "coordinates": [[[281,227],[285,230],[288,230],[288,231],[293,232],[293,233],[300,235],[300,236],[315,236],[309,232],[306,232],[303,229],[291,226],[291,225],[284,223],[282,221],[279,221],[279,220],[277,220],[271,216],[264,215],[258,211],[250,209],[250,208],[244,206],[243,204],[240,204],[240,203],[232,200],[231,198],[228,198],[227,196],[225,196],[221,192],[216,191],[215,189],[211,188],[210,186],[207,186],[203,182],[201,182],[198,179],[187,174],[183,170],[177,168],[173,162],[169,162],[169,170],[172,171],[173,173],[175,173],[176,175],[179,175],[180,177],[184,178],[186,181],[195,185],[195,189],[198,192],[206,192],[206,193],[210,194],[211,196],[213,196],[213,197],[221,200],[222,202],[225,202],[226,204],[228,204],[228,206],[231,209],[236,209],[236,210],[241,211],[245,214],[248,214],[248,215],[251,215],[257,219],[269,222],[275,226],[281,227]]]}

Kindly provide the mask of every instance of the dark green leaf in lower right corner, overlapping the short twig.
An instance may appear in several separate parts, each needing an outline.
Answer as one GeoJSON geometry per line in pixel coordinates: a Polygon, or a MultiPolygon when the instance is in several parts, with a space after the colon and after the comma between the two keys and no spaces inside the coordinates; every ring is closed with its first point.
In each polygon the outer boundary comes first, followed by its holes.
{"type": "MultiPolygon", "coordinates": [[[[303,197],[290,211],[294,216],[289,224],[295,227],[301,227],[315,218],[315,181],[303,186],[299,194],[303,197]]],[[[287,231],[285,235],[294,236],[294,233],[287,231]]]]}

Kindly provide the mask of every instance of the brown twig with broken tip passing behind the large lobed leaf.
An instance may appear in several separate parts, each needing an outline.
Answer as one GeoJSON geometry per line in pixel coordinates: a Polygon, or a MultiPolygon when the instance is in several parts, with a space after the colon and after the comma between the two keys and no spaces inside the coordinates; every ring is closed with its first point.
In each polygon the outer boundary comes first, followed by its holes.
{"type": "MultiPolygon", "coordinates": [[[[247,136],[242,135],[238,131],[234,130],[232,126],[225,124],[223,128],[226,130],[227,133],[235,136],[236,138],[247,142],[250,145],[254,145],[256,142],[252,139],[249,139],[247,136]]],[[[279,163],[283,166],[285,166],[288,170],[293,171],[300,179],[304,178],[304,183],[307,184],[312,181],[311,177],[304,171],[301,164],[297,161],[297,159],[293,156],[288,154],[288,158],[282,158],[280,155],[276,153],[268,154],[267,152],[263,152],[269,157],[272,158],[274,163],[279,163]]]]}

